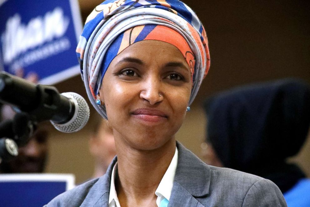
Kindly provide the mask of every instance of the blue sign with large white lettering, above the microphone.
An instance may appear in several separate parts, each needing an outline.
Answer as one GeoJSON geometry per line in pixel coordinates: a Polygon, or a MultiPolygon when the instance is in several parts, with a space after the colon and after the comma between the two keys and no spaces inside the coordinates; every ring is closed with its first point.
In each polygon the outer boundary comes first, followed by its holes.
{"type": "Polygon", "coordinates": [[[42,84],[79,73],[77,0],[0,0],[0,70],[35,72],[42,84]]]}

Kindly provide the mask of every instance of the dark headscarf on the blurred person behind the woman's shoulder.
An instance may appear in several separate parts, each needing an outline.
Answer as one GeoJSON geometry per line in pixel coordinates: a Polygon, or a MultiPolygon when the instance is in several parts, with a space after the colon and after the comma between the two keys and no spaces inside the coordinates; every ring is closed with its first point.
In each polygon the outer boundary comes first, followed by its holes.
{"type": "Polygon", "coordinates": [[[296,155],[310,125],[310,89],[298,80],[236,88],[205,103],[207,142],[223,165],[272,180],[285,193],[305,175],[296,155]]]}

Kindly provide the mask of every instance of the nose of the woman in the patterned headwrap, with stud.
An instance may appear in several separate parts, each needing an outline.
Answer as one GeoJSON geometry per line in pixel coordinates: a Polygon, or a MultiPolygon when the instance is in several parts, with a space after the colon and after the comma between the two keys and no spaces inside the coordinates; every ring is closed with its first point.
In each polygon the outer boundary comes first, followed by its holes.
{"type": "Polygon", "coordinates": [[[151,105],[163,101],[161,80],[156,75],[151,75],[142,83],[140,98],[146,100],[151,105]]]}

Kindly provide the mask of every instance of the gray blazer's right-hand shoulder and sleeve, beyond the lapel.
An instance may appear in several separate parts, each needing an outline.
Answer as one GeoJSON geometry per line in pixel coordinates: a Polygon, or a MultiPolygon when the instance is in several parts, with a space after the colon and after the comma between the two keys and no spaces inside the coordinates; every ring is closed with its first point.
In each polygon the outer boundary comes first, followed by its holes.
{"type": "Polygon", "coordinates": [[[210,170],[211,198],[218,195],[225,198],[216,202],[234,206],[287,206],[280,189],[270,180],[230,168],[210,166],[210,170]]]}

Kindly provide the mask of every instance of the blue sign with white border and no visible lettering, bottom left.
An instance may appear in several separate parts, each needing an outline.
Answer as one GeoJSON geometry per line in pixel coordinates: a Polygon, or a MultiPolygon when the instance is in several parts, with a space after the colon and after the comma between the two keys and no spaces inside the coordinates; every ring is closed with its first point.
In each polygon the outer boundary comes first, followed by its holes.
{"type": "Polygon", "coordinates": [[[71,174],[2,174],[0,206],[41,207],[73,187],[71,174]]]}

